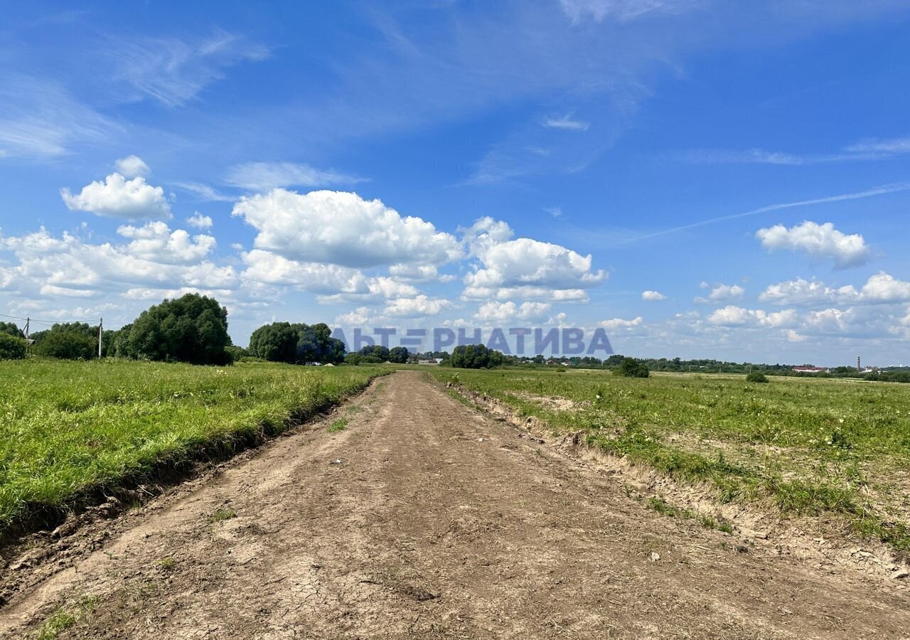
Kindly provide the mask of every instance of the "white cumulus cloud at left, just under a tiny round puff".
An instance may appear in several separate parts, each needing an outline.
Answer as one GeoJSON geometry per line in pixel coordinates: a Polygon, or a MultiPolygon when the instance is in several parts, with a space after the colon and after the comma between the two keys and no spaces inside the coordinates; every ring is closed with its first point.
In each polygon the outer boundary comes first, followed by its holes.
{"type": "Polygon", "coordinates": [[[66,208],[88,211],[104,218],[171,218],[164,189],[152,187],[141,176],[127,180],[112,173],[104,182],[96,180],[75,195],[63,188],[60,196],[66,208]]]}

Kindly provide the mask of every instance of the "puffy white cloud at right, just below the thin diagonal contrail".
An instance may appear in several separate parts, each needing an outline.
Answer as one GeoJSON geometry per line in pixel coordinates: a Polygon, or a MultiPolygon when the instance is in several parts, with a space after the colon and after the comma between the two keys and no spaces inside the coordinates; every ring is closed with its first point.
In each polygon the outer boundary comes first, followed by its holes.
{"type": "Polygon", "coordinates": [[[810,220],[787,229],[784,225],[774,225],[759,229],[755,237],[768,250],[790,249],[805,251],[816,259],[832,258],[838,269],[856,267],[869,259],[869,247],[863,236],[851,235],[834,229],[834,224],[818,224],[810,220]]]}

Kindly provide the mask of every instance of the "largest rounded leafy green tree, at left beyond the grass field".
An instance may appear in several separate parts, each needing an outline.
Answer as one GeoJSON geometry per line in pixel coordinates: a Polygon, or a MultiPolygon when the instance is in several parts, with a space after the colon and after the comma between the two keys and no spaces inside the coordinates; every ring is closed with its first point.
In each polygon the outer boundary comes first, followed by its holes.
{"type": "Polygon", "coordinates": [[[227,364],[225,348],[230,343],[227,310],[213,298],[187,293],[139,314],[129,330],[126,353],[147,360],[227,364]]]}

